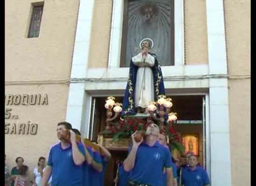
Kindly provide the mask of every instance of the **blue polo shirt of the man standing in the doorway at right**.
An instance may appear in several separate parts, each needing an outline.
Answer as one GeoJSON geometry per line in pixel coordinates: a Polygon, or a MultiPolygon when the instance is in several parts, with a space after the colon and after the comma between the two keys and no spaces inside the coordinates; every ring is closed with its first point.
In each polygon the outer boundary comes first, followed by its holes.
{"type": "Polygon", "coordinates": [[[183,169],[182,183],[184,186],[204,186],[210,183],[207,172],[199,166],[196,166],[194,171],[190,168],[183,169]]]}

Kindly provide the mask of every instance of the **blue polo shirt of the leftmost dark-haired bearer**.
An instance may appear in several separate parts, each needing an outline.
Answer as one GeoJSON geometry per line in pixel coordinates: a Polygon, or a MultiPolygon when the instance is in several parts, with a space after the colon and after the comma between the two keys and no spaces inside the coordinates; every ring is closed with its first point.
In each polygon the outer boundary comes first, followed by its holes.
{"type": "MultiPolygon", "coordinates": [[[[81,142],[77,143],[79,151],[85,155],[81,142]]],[[[82,185],[82,165],[74,164],[72,146],[66,149],[61,147],[61,143],[53,146],[49,153],[47,162],[52,166],[52,186],[81,186],[82,185]]]]}

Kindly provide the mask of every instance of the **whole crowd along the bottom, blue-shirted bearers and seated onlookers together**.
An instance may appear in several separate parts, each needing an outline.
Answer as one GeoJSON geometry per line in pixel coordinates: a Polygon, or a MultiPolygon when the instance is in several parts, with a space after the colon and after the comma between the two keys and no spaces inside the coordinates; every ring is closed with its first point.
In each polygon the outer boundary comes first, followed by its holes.
{"type": "MultiPolygon", "coordinates": [[[[159,133],[159,127],[152,123],[146,129],[141,141],[135,140],[128,156],[118,168],[115,186],[209,186],[207,172],[198,165],[197,156],[187,154],[186,165],[174,159],[166,135],[159,133]]],[[[111,153],[97,144],[101,153],[84,144],[79,130],[68,122],[57,124],[59,143],[49,152],[46,159],[40,157],[34,168],[33,183],[27,176],[28,166],[24,159],[15,159],[11,173],[5,167],[6,186],[104,186],[104,172],[111,153]],[[10,185],[11,184],[11,185],[10,185]]]]}

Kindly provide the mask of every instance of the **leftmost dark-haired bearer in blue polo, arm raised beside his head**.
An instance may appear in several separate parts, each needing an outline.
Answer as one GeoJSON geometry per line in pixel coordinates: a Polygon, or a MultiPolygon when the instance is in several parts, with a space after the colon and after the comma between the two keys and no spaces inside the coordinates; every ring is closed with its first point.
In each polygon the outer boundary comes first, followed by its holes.
{"type": "Polygon", "coordinates": [[[76,142],[75,133],[71,129],[72,126],[68,122],[58,123],[57,137],[61,142],[50,150],[42,186],[47,185],[51,174],[52,186],[82,186],[85,151],[81,142],[76,142]]]}

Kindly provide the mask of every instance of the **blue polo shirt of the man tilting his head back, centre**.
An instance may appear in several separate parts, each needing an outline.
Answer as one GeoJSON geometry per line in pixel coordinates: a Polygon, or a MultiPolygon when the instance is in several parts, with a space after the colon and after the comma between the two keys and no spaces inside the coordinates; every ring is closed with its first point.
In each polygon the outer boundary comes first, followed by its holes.
{"type": "MultiPolygon", "coordinates": [[[[129,148],[128,153],[131,151],[129,148]]],[[[171,153],[168,148],[155,142],[148,146],[142,142],[137,149],[135,165],[130,171],[128,179],[139,184],[163,186],[163,167],[171,167],[171,153]]]]}

